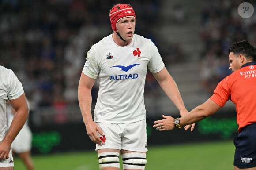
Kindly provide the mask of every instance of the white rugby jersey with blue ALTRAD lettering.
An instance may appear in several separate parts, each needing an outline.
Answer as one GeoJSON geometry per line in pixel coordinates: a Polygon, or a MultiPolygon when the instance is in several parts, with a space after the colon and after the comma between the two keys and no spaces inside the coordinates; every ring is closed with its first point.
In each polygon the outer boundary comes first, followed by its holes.
{"type": "Polygon", "coordinates": [[[159,72],[164,63],[151,40],[134,34],[132,42],[118,46],[109,35],[87,52],[83,73],[99,79],[94,121],[132,123],[146,119],[144,85],[147,68],[159,72]]]}

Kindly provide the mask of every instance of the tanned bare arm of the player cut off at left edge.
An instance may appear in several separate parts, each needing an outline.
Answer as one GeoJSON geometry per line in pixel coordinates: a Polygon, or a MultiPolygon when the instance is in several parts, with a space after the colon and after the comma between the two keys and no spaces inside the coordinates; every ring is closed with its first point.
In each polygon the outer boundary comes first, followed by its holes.
{"type": "Polygon", "coordinates": [[[11,143],[23,127],[29,114],[24,93],[19,98],[10,100],[10,103],[16,114],[11,122],[11,126],[7,134],[3,141],[0,142],[0,159],[9,158],[11,143]]]}

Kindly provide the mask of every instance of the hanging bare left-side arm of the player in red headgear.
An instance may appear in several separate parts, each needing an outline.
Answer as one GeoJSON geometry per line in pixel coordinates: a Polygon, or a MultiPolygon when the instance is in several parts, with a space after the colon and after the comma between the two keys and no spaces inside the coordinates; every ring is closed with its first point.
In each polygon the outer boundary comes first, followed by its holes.
{"type": "Polygon", "coordinates": [[[102,130],[93,121],[91,116],[91,89],[95,83],[95,79],[86,76],[83,72],[78,85],[78,101],[83,116],[83,122],[87,130],[87,134],[95,144],[101,144],[101,139],[97,135],[97,131],[102,136],[102,130]]]}

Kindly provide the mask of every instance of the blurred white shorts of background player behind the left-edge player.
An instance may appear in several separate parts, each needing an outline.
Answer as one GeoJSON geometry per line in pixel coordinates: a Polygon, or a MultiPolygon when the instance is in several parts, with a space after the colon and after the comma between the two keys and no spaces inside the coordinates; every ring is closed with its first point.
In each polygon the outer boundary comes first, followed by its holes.
{"type": "Polygon", "coordinates": [[[11,148],[15,153],[28,152],[31,150],[32,132],[25,124],[19,131],[19,134],[11,144],[11,148]]]}

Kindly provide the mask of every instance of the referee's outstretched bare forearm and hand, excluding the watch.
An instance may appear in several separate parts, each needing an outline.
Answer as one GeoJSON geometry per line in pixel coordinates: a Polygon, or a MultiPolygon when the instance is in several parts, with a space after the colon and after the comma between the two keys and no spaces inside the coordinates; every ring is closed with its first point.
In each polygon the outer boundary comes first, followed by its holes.
{"type": "MultiPolygon", "coordinates": [[[[215,112],[217,112],[221,106],[217,105],[214,101],[211,99],[208,99],[206,102],[204,102],[202,105],[197,106],[195,109],[193,109],[191,112],[189,112],[187,115],[180,118],[180,125],[185,126],[188,124],[199,122],[202,119],[205,119],[208,116],[211,116],[215,112]]],[[[157,120],[154,122],[154,126],[157,130],[161,129],[161,126],[165,127],[162,130],[173,130],[174,124],[173,124],[173,117],[171,116],[163,116],[165,119],[157,120]]],[[[161,131],[162,131],[161,130],[161,131]]]]}

